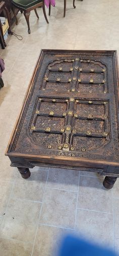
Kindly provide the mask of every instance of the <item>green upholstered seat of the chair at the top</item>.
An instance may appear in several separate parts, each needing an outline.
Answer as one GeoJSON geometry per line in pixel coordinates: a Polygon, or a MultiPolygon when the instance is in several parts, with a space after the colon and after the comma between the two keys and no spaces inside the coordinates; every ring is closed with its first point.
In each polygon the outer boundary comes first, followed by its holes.
{"type": "Polygon", "coordinates": [[[42,3],[42,0],[12,0],[12,3],[20,9],[27,10],[28,8],[42,3]]]}

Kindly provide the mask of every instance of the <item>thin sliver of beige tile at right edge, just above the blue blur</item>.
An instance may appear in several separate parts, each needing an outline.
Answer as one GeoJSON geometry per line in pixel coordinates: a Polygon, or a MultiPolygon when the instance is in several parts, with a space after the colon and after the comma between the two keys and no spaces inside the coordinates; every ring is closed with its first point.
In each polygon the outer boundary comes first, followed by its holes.
{"type": "Polygon", "coordinates": [[[115,238],[119,238],[119,198],[113,198],[113,207],[114,207],[114,235],[115,238]]]}

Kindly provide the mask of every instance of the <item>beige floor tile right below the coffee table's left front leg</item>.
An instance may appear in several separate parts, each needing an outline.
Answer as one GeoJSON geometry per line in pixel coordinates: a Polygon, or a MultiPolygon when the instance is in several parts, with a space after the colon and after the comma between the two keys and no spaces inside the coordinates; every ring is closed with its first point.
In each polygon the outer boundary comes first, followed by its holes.
{"type": "Polygon", "coordinates": [[[18,172],[12,197],[42,202],[46,179],[47,171],[31,170],[31,176],[27,180],[23,179],[18,172]]]}

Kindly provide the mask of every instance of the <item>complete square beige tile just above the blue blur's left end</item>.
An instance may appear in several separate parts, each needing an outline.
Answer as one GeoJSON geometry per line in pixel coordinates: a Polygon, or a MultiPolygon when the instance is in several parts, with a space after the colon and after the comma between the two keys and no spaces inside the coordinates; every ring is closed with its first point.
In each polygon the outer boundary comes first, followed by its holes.
{"type": "Polygon", "coordinates": [[[77,193],[46,189],[40,223],[74,229],[77,193]]]}

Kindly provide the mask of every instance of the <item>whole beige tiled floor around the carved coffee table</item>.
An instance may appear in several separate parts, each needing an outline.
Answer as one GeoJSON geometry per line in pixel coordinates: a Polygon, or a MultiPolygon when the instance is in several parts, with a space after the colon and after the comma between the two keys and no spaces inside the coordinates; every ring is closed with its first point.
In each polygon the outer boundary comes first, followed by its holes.
{"type": "MultiPolygon", "coordinates": [[[[106,191],[95,173],[34,168],[23,180],[4,156],[10,134],[41,49],[111,50],[119,53],[118,0],[56,0],[46,24],[42,9],[30,16],[31,34],[24,15],[9,35],[4,88],[0,90],[0,251],[2,256],[49,256],[58,246],[58,236],[78,232],[119,252],[119,179],[106,191]]],[[[119,55],[118,55],[119,56],[119,55]]],[[[55,253],[56,255],[56,253],[55,253]]]]}

